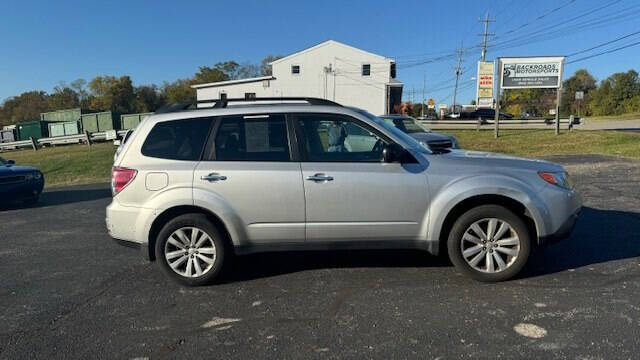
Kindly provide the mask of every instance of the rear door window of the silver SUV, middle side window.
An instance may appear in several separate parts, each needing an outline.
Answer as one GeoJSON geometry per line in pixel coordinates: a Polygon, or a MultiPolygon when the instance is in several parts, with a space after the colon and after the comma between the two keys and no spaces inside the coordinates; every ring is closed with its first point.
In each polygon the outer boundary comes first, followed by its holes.
{"type": "Polygon", "coordinates": [[[283,114],[228,116],[215,138],[218,161],[289,161],[289,137],[283,114]]]}

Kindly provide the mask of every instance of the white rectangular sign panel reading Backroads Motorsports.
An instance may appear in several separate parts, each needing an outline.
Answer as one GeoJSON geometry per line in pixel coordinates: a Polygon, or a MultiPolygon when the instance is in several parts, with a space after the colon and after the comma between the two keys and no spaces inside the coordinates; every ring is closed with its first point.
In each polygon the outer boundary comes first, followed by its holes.
{"type": "Polygon", "coordinates": [[[557,89],[562,82],[563,57],[501,58],[503,89],[557,89]]]}

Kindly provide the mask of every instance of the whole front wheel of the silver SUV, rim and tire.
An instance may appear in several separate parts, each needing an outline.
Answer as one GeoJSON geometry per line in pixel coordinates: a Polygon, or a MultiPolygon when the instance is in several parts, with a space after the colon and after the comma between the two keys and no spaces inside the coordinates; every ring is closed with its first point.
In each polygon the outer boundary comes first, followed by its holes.
{"type": "Polygon", "coordinates": [[[454,223],[447,248],[458,270],[484,282],[508,280],[529,258],[527,226],[505,207],[483,205],[464,213],[454,223]]]}

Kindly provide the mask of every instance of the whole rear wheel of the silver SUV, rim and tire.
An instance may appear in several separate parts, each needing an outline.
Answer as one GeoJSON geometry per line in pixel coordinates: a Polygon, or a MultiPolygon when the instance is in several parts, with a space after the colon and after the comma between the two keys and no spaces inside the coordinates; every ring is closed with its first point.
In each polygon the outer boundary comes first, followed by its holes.
{"type": "Polygon", "coordinates": [[[210,284],[226,259],[224,238],[202,214],[181,215],[158,234],[156,259],[174,280],[188,286],[210,284]]]}

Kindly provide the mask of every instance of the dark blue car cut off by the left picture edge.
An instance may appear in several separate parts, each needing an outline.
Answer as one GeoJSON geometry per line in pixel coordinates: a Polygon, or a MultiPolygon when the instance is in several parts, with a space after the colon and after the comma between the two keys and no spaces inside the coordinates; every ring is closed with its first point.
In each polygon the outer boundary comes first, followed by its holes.
{"type": "Polygon", "coordinates": [[[0,204],[36,202],[43,187],[44,176],[40,170],[18,166],[13,160],[0,157],[0,204]]]}

